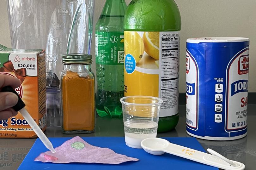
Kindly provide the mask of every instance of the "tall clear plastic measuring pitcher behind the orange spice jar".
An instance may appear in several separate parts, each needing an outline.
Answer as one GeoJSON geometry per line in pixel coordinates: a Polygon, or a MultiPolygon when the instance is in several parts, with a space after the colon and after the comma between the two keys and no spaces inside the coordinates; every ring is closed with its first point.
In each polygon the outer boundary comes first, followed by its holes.
{"type": "Polygon", "coordinates": [[[61,126],[61,56],[90,54],[94,0],[7,1],[12,48],[46,50],[47,127],[61,126]]]}

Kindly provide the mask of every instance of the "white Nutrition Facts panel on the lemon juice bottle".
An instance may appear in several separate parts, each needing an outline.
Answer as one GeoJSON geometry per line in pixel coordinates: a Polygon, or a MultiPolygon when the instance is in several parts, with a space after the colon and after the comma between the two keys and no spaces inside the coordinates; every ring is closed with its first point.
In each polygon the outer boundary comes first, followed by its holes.
{"type": "Polygon", "coordinates": [[[159,38],[161,116],[172,116],[178,113],[180,32],[160,32],[159,38]]]}

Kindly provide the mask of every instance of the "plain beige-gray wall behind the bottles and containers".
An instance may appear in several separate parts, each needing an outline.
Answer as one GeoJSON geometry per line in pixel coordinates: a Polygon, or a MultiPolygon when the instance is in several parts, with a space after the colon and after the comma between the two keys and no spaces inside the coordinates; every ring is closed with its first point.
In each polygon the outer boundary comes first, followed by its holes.
{"type": "MultiPolygon", "coordinates": [[[[131,0],[126,0],[130,3],[131,0]]],[[[0,44],[11,47],[7,1],[0,0],[0,44]]],[[[256,1],[255,0],[175,0],[181,19],[180,92],[185,92],[186,39],[194,37],[250,38],[249,92],[256,92],[256,1]]],[[[94,26],[105,0],[95,0],[94,26]]],[[[92,40],[95,54],[95,39],[92,40]]],[[[95,61],[95,59],[93,59],[95,61]]],[[[95,71],[95,65],[93,64],[95,71]]]]}

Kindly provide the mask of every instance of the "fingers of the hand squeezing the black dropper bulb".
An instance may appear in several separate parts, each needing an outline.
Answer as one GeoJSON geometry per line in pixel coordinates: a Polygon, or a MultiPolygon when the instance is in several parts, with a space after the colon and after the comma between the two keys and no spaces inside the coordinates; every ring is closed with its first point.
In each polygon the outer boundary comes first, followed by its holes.
{"type": "Polygon", "coordinates": [[[17,88],[21,84],[21,81],[15,77],[0,74],[0,121],[8,119],[9,117],[16,116],[17,111],[11,107],[18,103],[18,97],[11,92],[1,92],[1,88],[5,86],[11,86],[17,88]]]}

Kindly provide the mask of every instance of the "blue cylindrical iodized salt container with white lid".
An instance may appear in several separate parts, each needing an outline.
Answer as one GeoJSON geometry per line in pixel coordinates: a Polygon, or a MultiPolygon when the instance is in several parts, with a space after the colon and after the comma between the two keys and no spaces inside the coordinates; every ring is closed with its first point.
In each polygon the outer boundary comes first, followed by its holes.
{"type": "Polygon", "coordinates": [[[186,43],[186,131],[209,140],[247,135],[249,39],[190,38],[186,43]]]}

